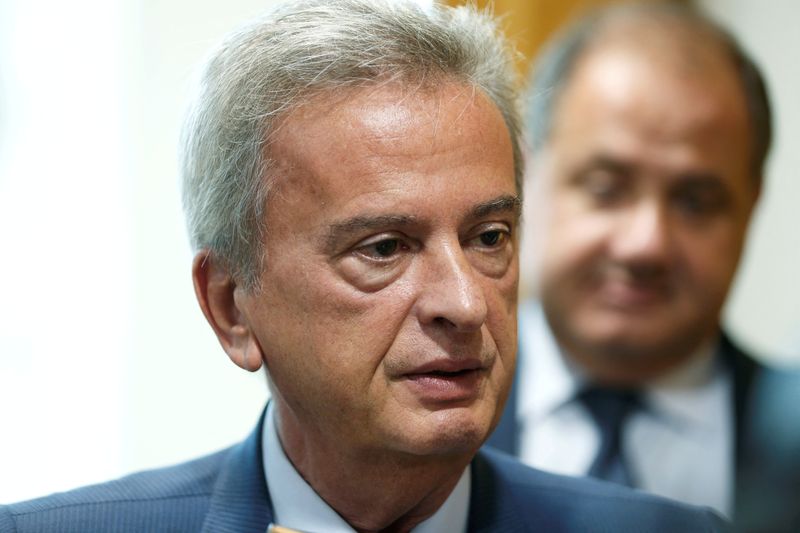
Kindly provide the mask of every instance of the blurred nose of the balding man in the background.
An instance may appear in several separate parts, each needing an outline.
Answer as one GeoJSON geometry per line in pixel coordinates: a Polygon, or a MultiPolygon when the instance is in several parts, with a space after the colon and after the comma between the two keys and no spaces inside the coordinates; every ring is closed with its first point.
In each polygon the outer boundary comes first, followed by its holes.
{"type": "Polygon", "coordinates": [[[631,206],[617,220],[612,254],[619,261],[665,262],[672,234],[667,209],[657,200],[631,206]]]}

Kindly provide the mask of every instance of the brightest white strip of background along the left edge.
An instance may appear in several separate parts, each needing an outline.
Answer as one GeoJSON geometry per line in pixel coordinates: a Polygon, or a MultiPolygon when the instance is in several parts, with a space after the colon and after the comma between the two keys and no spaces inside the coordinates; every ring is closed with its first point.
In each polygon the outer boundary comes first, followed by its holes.
{"type": "Polygon", "coordinates": [[[51,4],[43,17],[0,3],[0,501],[43,489],[48,471],[55,488],[121,460],[133,231],[122,12],[51,4]],[[87,12],[103,24],[76,32],[87,12]]]}

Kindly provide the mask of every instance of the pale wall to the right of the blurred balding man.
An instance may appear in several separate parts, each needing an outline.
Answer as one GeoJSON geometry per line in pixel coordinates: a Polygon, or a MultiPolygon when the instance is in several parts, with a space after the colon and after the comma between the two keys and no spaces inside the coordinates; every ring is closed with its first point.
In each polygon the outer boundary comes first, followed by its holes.
{"type": "Polygon", "coordinates": [[[761,205],[727,309],[728,328],[778,363],[800,364],[800,3],[702,0],[763,67],[776,141],[761,205]]]}

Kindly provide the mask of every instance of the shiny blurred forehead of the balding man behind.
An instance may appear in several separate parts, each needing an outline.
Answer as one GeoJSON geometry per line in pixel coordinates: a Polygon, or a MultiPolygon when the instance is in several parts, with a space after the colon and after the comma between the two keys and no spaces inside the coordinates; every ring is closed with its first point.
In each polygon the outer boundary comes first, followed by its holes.
{"type": "Polygon", "coordinates": [[[744,93],[724,62],[687,76],[630,47],[586,59],[558,104],[554,133],[567,127],[591,134],[592,117],[606,134],[635,127],[665,143],[696,137],[698,146],[725,130],[749,131],[744,93]]]}

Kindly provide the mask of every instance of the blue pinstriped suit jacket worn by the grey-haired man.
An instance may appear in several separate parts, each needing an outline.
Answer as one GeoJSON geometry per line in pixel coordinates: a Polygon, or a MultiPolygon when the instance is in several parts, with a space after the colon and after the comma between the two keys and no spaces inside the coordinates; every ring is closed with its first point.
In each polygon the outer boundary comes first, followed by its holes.
{"type": "MultiPolygon", "coordinates": [[[[8,506],[0,532],[264,533],[272,504],[261,424],[243,443],[178,466],[8,506]]],[[[586,479],[535,471],[491,450],[472,463],[470,532],[718,531],[712,513],[586,479]]]]}

